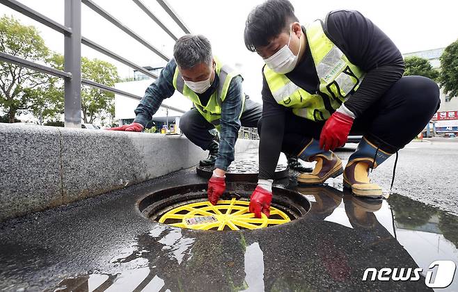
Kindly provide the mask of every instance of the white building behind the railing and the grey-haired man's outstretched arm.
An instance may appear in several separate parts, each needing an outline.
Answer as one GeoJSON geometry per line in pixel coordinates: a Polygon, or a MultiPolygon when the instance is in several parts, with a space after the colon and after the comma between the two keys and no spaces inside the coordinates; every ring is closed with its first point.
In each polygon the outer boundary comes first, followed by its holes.
{"type": "MultiPolygon", "coordinates": [[[[162,67],[145,67],[146,70],[159,75],[159,72],[162,70],[162,67]]],[[[134,72],[134,78],[132,81],[124,81],[115,84],[115,88],[123,90],[125,92],[132,93],[143,97],[145,95],[145,90],[153,83],[155,79],[150,78],[140,72],[134,72]]],[[[115,95],[115,120],[119,121],[119,124],[129,124],[134,121],[135,113],[134,110],[139,104],[139,100],[132,99],[130,97],[125,97],[124,95],[115,95]]],[[[162,104],[166,106],[172,106],[173,108],[178,108],[184,112],[189,111],[192,107],[192,102],[180,94],[180,92],[175,91],[172,97],[164,99],[162,104]]],[[[180,116],[183,113],[173,110],[167,110],[164,107],[160,107],[157,113],[153,115],[153,122],[156,127],[161,128],[166,124],[176,124],[178,126],[180,122],[180,116]]],[[[148,124],[148,127],[152,127],[153,124],[148,124]]]]}

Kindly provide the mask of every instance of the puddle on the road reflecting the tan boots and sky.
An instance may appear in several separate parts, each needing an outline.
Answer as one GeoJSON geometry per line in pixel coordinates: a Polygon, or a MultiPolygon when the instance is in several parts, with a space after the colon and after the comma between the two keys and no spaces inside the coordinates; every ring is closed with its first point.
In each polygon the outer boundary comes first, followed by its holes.
{"type": "MultiPolygon", "coordinates": [[[[310,213],[316,214],[315,219],[359,232],[367,229],[379,241],[384,239],[380,229],[386,229],[423,268],[423,276],[434,261],[458,263],[457,216],[398,194],[388,200],[365,200],[330,186],[297,190],[312,202],[310,213]]],[[[443,291],[458,291],[458,279],[443,291]]]]}

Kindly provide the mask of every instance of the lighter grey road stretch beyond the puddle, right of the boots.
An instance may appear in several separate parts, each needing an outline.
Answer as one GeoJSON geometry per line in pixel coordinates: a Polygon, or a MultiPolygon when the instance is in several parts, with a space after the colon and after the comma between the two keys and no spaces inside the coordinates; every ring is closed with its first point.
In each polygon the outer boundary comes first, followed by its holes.
{"type": "MultiPolygon", "coordinates": [[[[393,193],[437,206],[458,216],[458,139],[412,142],[399,152],[393,193]],[[448,142],[452,141],[452,142],[448,142]]],[[[356,144],[337,151],[348,159],[356,144]]],[[[375,169],[372,181],[390,190],[395,155],[375,169]]],[[[340,180],[341,177],[338,177],[340,180]]]]}

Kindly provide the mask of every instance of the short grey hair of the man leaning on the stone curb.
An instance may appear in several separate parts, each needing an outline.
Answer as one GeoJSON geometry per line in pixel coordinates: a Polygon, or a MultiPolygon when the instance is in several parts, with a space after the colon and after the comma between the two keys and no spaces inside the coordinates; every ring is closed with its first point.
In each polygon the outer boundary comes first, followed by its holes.
{"type": "Polygon", "coordinates": [[[183,35],[173,46],[173,57],[177,65],[189,69],[199,63],[211,64],[212,44],[203,35],[183,35]]]}

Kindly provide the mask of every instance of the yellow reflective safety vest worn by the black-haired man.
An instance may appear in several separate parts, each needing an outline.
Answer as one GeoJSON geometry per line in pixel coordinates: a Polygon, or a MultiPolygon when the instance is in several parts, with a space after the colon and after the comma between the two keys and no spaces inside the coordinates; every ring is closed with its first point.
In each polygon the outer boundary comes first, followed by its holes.
{"type": "Polygon", "coordinates": [[[306,27],[306,36],[319,90],[307,92],[285,74],[278,74],[264,65],[264,76],[278,104],[292,108],[294,115],[309,120],[327,120],[346,98],[358,89],[365,72],[352,64],[347,56],[326,36],[321,20],[306,27]]]}

